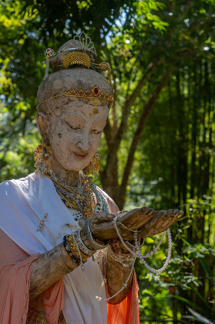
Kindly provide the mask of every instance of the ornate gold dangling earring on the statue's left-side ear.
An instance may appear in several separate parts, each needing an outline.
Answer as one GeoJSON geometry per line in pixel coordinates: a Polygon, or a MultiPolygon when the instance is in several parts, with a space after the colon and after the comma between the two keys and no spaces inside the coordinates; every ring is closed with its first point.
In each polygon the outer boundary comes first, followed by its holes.
{"type": "Polygon", "coordinates": [[[36,171],[38,173],[48,173],[50,171],[51,156],[46,144],[42,143],[42,145],[37,146],[34,151],[34,160],[36,162],[36,171]]]}

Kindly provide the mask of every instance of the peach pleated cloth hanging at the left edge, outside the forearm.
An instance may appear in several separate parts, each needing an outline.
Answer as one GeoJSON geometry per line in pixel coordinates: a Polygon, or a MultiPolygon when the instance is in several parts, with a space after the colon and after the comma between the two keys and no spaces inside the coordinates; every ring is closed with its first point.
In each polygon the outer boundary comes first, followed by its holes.
{"type": "Polygon", "coordinates": [[[33,260],[0,229],[0,324],[26,323],[33,260]],[[24,261],[23,261],[24,260],[24,261]]]}

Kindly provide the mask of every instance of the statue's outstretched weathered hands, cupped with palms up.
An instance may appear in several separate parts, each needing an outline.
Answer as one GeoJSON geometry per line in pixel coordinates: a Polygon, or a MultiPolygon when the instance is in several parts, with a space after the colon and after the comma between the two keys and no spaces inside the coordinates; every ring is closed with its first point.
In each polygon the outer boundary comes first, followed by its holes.
{"type": "MultiPolygon", "coordinates": [[[[138,229],[138,238],[148,237],[164,232],[172,226],[183,212],[178,209],[155,211],[153,208],[135,208],[126,214],[118,215],[120,222],[129,229],[138,229]]],[[[89,221],[89,227],[96,239],[118,237],[113,219],[116,216],[108,213],[98,213],[89,221]]],[[[117,226],[124,240],[133,240],[134,232],[127,230],[118,221],[117,226]]]]}

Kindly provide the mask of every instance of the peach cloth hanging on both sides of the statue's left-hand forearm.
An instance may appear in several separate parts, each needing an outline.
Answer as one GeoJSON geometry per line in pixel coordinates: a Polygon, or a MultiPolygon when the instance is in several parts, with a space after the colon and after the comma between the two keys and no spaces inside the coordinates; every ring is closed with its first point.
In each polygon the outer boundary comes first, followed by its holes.
{"type": "MultiPolygon", "coordinates": [[[[25,324],[28,312],[30,276],[33,261],[0,229],[0,324],[25,324]]],[[[57,324],[64,307],[63,278],[43,292],[46,318],[57,324]]]]}

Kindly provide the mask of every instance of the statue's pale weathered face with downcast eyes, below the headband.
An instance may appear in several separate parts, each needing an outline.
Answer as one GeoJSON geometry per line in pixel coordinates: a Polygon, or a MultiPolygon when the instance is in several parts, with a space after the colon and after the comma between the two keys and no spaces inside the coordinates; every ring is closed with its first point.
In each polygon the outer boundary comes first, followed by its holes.
{"type": "Polygon", "coordinates": [[[108,106],[69,101],[51,120],[52,152],[66,170],[79,171],[97,152],[106,125],[108,106]]]}

